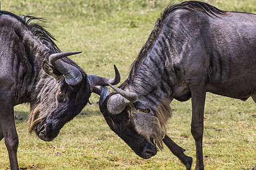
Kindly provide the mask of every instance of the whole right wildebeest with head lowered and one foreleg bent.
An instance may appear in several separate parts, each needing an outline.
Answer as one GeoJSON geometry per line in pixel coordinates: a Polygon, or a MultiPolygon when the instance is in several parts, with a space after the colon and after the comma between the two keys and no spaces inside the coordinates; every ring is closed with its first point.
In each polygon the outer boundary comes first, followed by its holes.
{"type": "Polygon", "coordinates": [[[144,159],[162,143],[191,168],[167,135],[173,99],[192,99],[196,169],[204,169],[206,92],[256,101],[256,15],[188,1],[166,8],[119,86],[101,88],[100,109],[110,128],[144,159]],[[146,114],[147,113],[147,114],[146,114]]]}

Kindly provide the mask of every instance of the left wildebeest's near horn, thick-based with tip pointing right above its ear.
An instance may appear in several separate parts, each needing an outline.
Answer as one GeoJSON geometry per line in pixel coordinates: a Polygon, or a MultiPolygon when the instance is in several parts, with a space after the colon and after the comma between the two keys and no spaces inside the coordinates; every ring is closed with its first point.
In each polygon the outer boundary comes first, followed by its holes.
{"type": "Polygon", "coordinates": [[[60,71],[65,76],[65,80],[69,85],[76,85],[81,82],[82,74],[76,69],[76,67],[70,65],[69,63],[60,61],[60,58],[68,57],[74,54],[79,54],[81,52],[65,52],[65,53],[55,53],[49,56],[49,62],[60,71]]]}

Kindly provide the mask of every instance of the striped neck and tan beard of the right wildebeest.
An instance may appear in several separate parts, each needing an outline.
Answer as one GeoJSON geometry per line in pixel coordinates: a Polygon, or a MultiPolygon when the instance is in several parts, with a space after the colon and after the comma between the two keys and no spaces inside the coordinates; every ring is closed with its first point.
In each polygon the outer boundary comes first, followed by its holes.
{"type": "MultiPolygon", "coordinates": [[[[152,49],[159,48],[158,41],[155,43],[156,45],[152,49]]],[[[133,80],[121,87],[126,91],[135,92],[138,95],[138,100],[150,108],[155,117],[151,138],[155,139],[159,148],[162,148],[162,138],[166,132],[165,126],[172,113],[170,103],[173,98],[170,97],[172,92],[170,77],[175,78],[175,76],[171,76],[173,72],[168,71],[171,68],[168,58],[155,56],[156,54],[152,50],[134,73],[133,80]],[[160,65],[167,67],[160,67],[160,65]]]]}

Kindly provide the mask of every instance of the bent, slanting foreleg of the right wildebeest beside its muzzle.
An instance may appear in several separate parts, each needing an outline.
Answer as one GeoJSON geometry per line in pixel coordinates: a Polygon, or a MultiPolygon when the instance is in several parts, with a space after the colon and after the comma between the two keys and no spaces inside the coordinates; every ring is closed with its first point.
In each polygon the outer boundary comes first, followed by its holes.
{"type": "Polygon", "coordinates": [[[193,159],[184,154],[185,149],[178,146],[168,135],[165,135],[163,138],[163,142],[166,146],[171,150],[172,154],[177,156],[181,160],[181,162],[185,165],[187,170],[191,169],[193,159]]]}

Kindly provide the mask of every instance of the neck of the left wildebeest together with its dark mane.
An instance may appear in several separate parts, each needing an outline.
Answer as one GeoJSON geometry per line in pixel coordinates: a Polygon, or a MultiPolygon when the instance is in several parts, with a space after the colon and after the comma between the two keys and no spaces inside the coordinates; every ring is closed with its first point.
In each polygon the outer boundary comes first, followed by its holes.
{"type": "Polygon", "coordinates": [[[5,65],[9,65],[6,73],[11,73],[9,76],[18,82],[13,86],[14,104],[33,101],[36,98],[35,87],[43,74],[42,62],[48,58],[49,54],[59,52],[59,49],[46,29],[31,23],[32,20],[42,21],[43,19],[32,16],[21,18],[7,11],[1,11],[0,16],[1,40],[7,40],[1,42],[5,43],[1,45],[4,48],[1,49],[1,56],[5,57],[5,53],[10,53],[9,59],[5,59],[5,65]]]}

